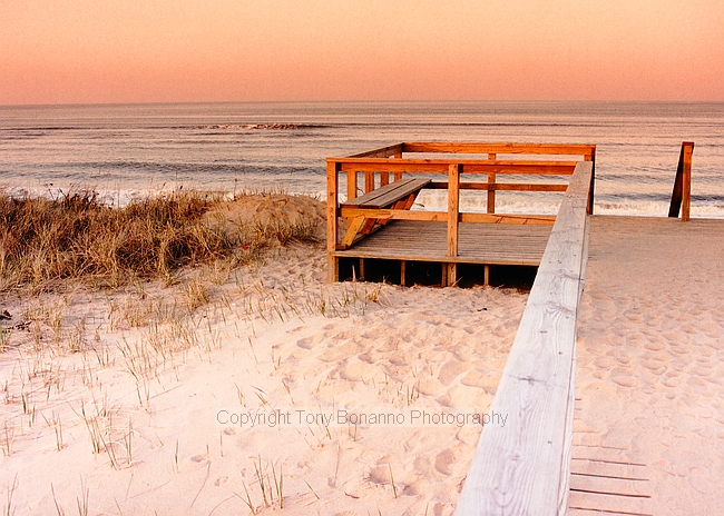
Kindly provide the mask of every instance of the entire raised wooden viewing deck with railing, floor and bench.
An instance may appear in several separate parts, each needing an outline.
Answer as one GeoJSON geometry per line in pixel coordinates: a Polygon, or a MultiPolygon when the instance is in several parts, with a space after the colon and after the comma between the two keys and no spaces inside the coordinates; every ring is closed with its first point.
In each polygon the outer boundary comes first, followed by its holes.
{"type": "Polygon", "coordinates": [[[575,173],[580,162],[589,162],[585,208],[590,214],[595,153],[593,145],[403,142],[346,158],[327,158],[329,279],[339,281],[348,277],[340,274],[343,259],[359,260],[361,274],[351,276],[356,278],[364,277],[365,259],[398,260],[402,284],[407,261],[439,262],[442,286],[459,282],[459,265],[482,265],[486,285],[489,266],[537,267],[556,217],[501,214],[496,210],[496,192],[566,191],[567,177],[575,173]],[[433,153],[436,158],[421,153],[433,153]],[[471,159],[460,153],[473,156],[471,159]],[[500,160],[500,153],[554,157],[500,160]],[[578,160],[561,159],[570,156],[578,160]],[[420,178],[420,173],[438,175],[442,180],[420,178]],[[346,179],[343,202],[341,175],[346,179]],[[364,176],[361,191],[359,175],[364,176]],[[461,180],[463,175],[469,180],[461,180]],[[521,175],[548,176],[558,182],[512,178],[521,175]],[[447,190],[447,210],[412,210],[415,196],[423,188],[447,190]],[[483,196],[485,214],[460,210],[463,189],[478,190],[483,196]],[[340,219],[346,220],[344,234],[340,232],[340,219]]]}

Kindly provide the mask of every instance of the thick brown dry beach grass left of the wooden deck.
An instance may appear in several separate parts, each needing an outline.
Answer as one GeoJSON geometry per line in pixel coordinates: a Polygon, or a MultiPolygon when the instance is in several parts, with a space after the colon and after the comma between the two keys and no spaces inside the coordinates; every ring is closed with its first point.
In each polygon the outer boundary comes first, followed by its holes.
{"type": "Polygon", "coordinates": [[[88,190],[58,199],[0,194],[0,291],[57,290],[66,280],[172,282],[186,265],[225,260],[233,267],[258,259],[271,245],[316,239],[315,220],[218,224],[243,197],[177,191],[109,208],[88,190]]]}

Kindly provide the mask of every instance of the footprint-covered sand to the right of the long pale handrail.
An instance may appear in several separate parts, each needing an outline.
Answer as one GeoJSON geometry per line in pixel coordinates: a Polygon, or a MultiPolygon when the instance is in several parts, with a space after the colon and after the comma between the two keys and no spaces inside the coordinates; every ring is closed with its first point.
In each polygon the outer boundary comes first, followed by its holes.
{"type": "MultiPolygon", "coordinates": [[[[650,498],[579,493],[571,506],[721,514],[724,221],[647,224],[637,225],[645,237],[615,218],[591,226],[574,457],[640,465],[628,470],[645,482],[629,487],[650,498]]],[[[580,464],[574,460],[574,470],[580,464]]]]}

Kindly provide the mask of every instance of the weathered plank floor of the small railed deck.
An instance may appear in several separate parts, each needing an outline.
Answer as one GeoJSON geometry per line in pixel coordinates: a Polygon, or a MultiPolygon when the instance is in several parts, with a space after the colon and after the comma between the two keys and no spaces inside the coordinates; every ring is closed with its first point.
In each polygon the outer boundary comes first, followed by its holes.
{"type": "Polygon", "coordinates": [[[427,220],[393,220],[340,258],[379,258],[483,265],[540,265],[551,226],[461,222],[458,256],[448,256],[448,226],[427,220]]]}

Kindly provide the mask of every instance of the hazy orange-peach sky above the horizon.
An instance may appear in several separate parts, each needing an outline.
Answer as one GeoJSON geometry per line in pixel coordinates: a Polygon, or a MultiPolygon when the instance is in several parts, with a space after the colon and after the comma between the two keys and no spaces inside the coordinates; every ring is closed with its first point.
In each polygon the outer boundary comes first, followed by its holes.
{"type": "Polygon", "coordinates": [[[0,0],[0,105],[724,101],[722,0],[0,0]]]}

